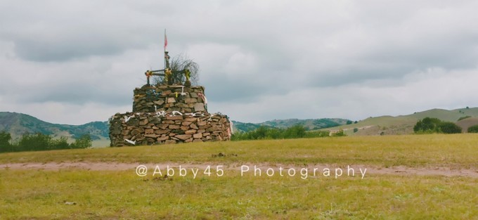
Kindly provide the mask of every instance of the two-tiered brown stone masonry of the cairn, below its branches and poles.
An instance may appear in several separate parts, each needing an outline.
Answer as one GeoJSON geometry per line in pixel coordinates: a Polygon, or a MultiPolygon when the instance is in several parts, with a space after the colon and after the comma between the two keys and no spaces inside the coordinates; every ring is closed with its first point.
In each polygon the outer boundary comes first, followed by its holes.
{"type": "Polygon", "coordinates": [[[110,118],[111,146],[228,141],[231,122],[207,112],[202,86],[146,84],[134,89],[133,112],[110,118]]]}

